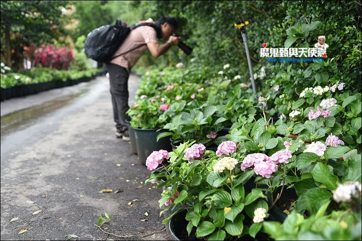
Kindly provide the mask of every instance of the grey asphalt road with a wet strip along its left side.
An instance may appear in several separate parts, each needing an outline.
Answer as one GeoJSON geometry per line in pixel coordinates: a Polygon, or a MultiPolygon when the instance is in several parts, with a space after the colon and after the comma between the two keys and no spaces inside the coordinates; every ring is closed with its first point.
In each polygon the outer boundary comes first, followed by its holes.
{"type": "MultiPolygon", "coordinates": [[[[131,75],[130,105],[138,80],[131,75]]],[[[105,76],[2,101],[1,240],[170,240],[162,190],[144,184],[150,171],[114,132],[105,76]],[[105,212],[103,232],[94,224],[105,212]]]]}

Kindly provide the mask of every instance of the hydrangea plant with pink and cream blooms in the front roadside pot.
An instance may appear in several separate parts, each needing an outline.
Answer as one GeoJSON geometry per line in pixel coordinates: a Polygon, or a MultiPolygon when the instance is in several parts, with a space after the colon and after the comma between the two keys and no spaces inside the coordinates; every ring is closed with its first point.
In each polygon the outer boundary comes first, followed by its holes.
{"type": "Polygon", "coordinates": [[[146,165],[153,172],[146,182],[163,180],[158,187],[170,187],[161,194],[160,207],[166,207],[160,214],[182,204],[163,223],[186,210],[188,235],[209,240],[256,237],[268,215],[268,203],[251,179],[254,171],[241,171],[237,149],[232,141],[224,141],[216,152],[187,141],[173,152],[151,154],[146,165]],[[162,164],[164,159],[169,159],[167,166],[162,164]],[[157,169],[159,164],[163,170],[157,169]]]}

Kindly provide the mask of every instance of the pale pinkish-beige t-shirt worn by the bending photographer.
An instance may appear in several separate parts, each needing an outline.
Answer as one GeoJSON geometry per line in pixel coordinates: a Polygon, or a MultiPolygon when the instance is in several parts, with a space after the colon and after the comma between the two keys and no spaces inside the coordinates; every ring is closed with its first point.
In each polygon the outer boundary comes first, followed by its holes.
{"type": "MultiPolygon", "coordinates": [[[[113,56],[125,53],[135,48],[136,46],[149,42],[158,42],[156,30],[150,26],[137,27],[130,32],[121,46],[119,46],[117,51],[115,51],[113,56]]],[[[137,60],[141,58],[146,49],[147,45],[143,45],[142,47],[132,50],[131,52],[114,58],[110,62],[126,68],[129,73],[131,68],[136,64],[137,60]]]]}

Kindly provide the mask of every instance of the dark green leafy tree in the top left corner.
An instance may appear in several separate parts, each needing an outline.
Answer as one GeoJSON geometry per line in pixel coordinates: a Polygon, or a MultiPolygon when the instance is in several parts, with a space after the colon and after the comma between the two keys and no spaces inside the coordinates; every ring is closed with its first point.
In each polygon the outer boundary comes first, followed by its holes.
{"type": "Polygon", "coordinates": [[[1,59],[22,69],[23,47],[59,38],[68,1],[1,1],[1,59]],[[3,41],[4,40],[4,41],[3,41]]]}

